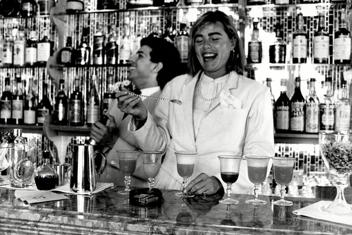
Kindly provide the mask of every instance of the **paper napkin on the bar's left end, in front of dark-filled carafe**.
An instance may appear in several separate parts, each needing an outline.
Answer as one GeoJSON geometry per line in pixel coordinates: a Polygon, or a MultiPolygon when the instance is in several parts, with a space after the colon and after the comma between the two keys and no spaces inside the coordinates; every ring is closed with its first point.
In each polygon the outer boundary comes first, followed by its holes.
{"type": "Polygon", "coordinates": [[[14,196],[21,199],[21,201],[28,203],[29,205],[35,203],[45,203],[53,200],[65,200],[68,197],[63,194],[55,194],[52,191],[38,190],[38,191],[23,191],[16,190],[14,191],[14,196]]]}

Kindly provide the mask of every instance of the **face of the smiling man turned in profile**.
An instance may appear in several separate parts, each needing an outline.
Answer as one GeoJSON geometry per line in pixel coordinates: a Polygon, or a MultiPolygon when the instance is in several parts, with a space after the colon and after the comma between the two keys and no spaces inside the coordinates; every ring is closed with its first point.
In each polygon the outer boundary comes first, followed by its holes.
{"type": "Polygon", "coordinates": [[[139,84],[148,81],[155,63],[150,61],[150,52],[152,49],[149,46],[141,46],[136,55],[130,57],[130,74],[128,79],[133,82],[138,88],[139,84]]]}

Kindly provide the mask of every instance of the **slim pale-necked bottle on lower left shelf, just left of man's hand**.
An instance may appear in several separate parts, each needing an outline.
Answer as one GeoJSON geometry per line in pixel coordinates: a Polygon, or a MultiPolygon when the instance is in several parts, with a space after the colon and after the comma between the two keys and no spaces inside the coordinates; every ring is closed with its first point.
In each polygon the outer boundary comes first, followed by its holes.
{"type": "Polygon", "coordinates": [[[99,120],[100,113],[100,98],[99,91],[97,88],[97,75],[92,75],[90,83],[90,90],[87,95],[87,126],[92,126],[97,120],[99,120]]]}

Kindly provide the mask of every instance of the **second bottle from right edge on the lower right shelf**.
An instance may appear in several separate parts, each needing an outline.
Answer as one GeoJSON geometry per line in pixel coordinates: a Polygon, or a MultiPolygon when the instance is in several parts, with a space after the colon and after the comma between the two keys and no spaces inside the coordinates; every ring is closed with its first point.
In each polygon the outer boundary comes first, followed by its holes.
{"type": "Polygon", "coordinates": [[[333,131],[335,127],[335,103],[332,77],[326,77],[326,94],[320,103],[320,131],[333,131]]]}

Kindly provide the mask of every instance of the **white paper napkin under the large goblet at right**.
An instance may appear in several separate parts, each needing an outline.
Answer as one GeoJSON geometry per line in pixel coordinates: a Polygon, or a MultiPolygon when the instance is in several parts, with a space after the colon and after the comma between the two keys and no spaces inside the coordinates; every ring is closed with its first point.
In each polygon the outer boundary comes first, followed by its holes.
{"type": "Polygon", "coordinates": [[[330,222],[342,223],[345,225],[352,225],[352,216],[331,215],[322,211],[322,207],[329,206],[331,203],[332,202],[330,200],[321,200],[320,202],[309,205],[308,207],[296,209],[293,211],[293,214],[297,216],[317,218],[320,220],[329,220],[330,222]]]}

